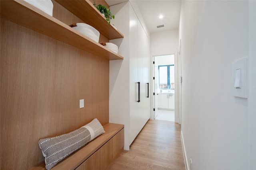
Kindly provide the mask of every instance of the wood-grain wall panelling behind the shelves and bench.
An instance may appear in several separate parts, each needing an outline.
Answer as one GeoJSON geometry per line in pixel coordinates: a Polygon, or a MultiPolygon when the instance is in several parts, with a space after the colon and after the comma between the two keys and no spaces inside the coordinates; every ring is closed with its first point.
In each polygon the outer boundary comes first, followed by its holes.
{"type": "MultiPolygon", "coordinates": [[[[53,16],[83,22],[58,3],[53,16]]],[[[109,61],[1,18],[1,170],[44,160],[38,140],[109,117],[109,61]],[[79,100],[84,108],[79,109],[79,100]]],[[[104,36],[100,42],[109,42],[104,36]]]]}

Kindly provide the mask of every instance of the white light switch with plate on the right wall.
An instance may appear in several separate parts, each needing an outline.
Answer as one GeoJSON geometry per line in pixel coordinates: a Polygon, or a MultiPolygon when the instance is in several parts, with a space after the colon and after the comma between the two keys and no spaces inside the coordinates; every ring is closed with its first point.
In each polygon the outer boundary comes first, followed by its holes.
{"type": "Polygon", "coordinates": [[[232,63],[232,88],[233,96],[248,98],[248,58],[243,58],[232,63]],[[240,69],[240,79],[236,77],[238,69],[240,69]]]}

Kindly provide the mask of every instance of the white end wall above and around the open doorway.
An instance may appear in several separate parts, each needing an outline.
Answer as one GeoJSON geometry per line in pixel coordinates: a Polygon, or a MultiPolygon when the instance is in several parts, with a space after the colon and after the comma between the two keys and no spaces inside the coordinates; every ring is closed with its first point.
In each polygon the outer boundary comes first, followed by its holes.
{"type": "MultiPolygon", "coordinates": [[[[168,31],[160,31],[150,33],[150,75],[153,75],[153,57],[158,55],[170,55],[174,54],[175,65],[175,83],[178,83],[178,60],[177,51],[179,47],[179,30],[172,29],[168,31]]],[[[151,76],[152,77],[152,76],[151,76]]],[[[153,79],[150,78],[150,84],[153,84],[153,79]]],[[[178,88],[175,84],[175,93],[178,94],[178,88]]],[[[153,89],[151,94],[153,94],[153,89]]],[[[151,98],[153,100],[153,98],[151,98]]],[[[154,119],[153,102],[150,104],[150,119],[154,119]]],[[[175,95],[175,121],[178,122],[178,95],[175,95]]]]}

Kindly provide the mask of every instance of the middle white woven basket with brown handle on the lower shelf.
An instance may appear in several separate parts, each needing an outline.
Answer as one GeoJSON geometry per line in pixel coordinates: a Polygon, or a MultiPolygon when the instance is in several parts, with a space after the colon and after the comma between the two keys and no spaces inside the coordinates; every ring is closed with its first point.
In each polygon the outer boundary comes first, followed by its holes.
{"type": "Polygon", "coordinates": [[[86,35],[87,37],[93,39],[97,43],[99,42],[100,32],[91,25],[88,25],[86,23],[74,23],[70,25],[70,27],[76,29],[77,31],[86,35]]]}

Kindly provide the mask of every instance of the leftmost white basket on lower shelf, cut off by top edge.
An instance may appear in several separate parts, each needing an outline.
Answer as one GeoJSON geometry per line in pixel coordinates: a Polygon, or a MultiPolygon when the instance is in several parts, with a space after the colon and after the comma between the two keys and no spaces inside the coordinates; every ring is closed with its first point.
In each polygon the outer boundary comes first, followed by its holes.
{"type": "Polygon", "coordinates": [[[32,6],[42,10],[46,14],[52,16],[53,4],[51,0],[24,0],[32,6]]]}

